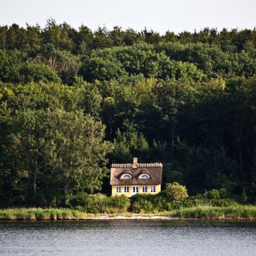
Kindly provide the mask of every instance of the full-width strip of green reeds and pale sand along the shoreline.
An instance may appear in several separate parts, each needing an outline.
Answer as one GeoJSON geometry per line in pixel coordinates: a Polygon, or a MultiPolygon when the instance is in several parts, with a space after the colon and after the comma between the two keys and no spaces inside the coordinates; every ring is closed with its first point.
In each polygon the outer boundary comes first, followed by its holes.
{"type": "Polygon", "coordinates": [[[120,214],[88,214],[79,210],[56,208],[10,208],[0,210],[0,220],[85,220],[117,216],[128,218],[161,216],[203,220],[256,220],[256,206],[196,206],[170,212],[159,212],[158,214],[132,214],[130,212],[120,214]]]}

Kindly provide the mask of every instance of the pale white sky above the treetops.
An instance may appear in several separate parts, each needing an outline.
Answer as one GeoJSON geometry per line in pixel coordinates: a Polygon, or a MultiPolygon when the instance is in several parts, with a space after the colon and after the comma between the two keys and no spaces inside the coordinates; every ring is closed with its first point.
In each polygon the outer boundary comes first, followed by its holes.
{"type": "Polygon", "coordinates": [[[0,0],[0,25],[40,24],[49,18],[74,28],[82,23],[128,27],[146,26],[161,34],[210,28],[254,28],[256,0],[0,0]]]}

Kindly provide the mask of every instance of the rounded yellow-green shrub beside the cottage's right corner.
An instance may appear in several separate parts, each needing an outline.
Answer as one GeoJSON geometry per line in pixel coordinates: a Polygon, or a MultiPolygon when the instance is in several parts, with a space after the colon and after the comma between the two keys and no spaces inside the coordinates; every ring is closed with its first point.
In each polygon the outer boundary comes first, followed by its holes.
{"type": "Polygon", "coordinates": [[[180,204],[189,197],[187,188],[179,183],[167,183],[165,188],[165,194],[173,203],[180,204]]]}

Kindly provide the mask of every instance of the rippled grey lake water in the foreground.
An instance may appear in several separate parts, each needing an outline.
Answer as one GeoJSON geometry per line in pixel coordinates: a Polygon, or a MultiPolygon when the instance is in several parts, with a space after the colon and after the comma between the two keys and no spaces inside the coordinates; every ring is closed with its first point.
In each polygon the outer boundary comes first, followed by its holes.
{"type": "Polygon", "coordinates": [[[0,255],[256,255],[256,222],[0,222],[0,255]]]}

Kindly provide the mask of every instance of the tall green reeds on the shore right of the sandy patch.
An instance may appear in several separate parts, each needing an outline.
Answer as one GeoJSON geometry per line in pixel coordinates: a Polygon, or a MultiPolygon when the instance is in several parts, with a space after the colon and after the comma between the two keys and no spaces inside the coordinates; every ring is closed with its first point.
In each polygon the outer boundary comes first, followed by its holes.
{"type": "Polygon", "coordinates": [[[173,210],[169,216],[178,218],[201,218],[206,220],[256,220],[256,206],[195,206],[173,210]]]}

